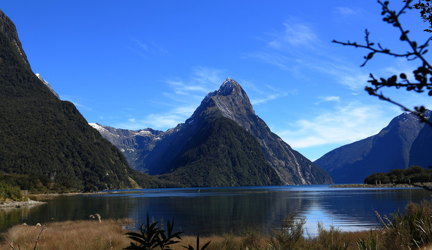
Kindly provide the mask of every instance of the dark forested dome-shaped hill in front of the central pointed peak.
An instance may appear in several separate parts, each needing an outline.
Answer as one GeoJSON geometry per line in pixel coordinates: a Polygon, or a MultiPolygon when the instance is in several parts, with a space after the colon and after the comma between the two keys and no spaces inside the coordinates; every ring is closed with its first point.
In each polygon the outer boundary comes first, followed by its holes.
{"type": "Polygon", "coordinates": [[[161,176],[193,187],[280,185],[253,135],[225,117],[208,119],[161,176]]]}

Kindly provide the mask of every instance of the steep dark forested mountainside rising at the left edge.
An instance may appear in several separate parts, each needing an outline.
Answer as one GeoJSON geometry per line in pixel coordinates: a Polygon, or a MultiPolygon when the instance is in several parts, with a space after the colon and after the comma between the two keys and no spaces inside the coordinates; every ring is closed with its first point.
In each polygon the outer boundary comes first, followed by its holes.
{"type": "Polygon", "coordinates": [[[0,10],[0,172],[43,174],[67,188],[131,188],[121,152],[33,74],[0,10]]]}

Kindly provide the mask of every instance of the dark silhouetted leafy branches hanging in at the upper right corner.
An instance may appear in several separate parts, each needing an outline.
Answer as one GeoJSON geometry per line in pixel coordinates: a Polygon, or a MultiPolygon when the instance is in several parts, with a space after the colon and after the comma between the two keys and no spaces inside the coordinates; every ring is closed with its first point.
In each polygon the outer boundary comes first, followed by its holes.
{"type": "Polygon", "coordinates": [[[408,108],[401,103],[397,101],[393,101],[390,99],[390,97],[386,97],[383,95],[381,90],[383,88],[397,88],[397,89],[405,89],[407,91],[414,91],[414,92],[428,92],[429,96],[432,96],[432,66],[429,64],[429,62],[426,60],[426,53],[428,52],[429,42],[431,41],[431,37],[426,38],[424,42],[419,43],[410,38],[408,35],[409,30],[404,28],[402,26],[401,22],[399,21],[399,17],[406,13],[407,10],[411,10],[412,8],[415,8],[417,10],[420,10],[420,15],[424,22],[429,22],[431,26],[429,28],[425,29],[426,32],[431,32],[432,27],[432,18],[431,18],[431,3],[429,3],[429,0],[419,0],[418,3],[415,3],[414,5],[411,5],[413,0],[405,0],[404,6],[401,8],[401,10],[391,10],[388,6],[388,1],[378,1],[378,3],[381,5],[381,15],[383,15],[383,22],[386,22],[393,27],[397,28],[397,30],[400,33],[400,40],[403,42],[406,42],[406,45],[408,47],[408,50],[406,52],[394,52],[387,47],[384,47],[381,45],[381,43],[375,44],[375,42],[372,42],[370,40],[370,32],[368,29],[365,30],[365,44],[358,44],[357,42],[338,42],[336,40],[333,40],[333,42],[336,42],[337,44],[343,44],[347,46],[352,46],[356,48],[362,48],[368,50],[368,54],[364,56],[364,63],[361,65],[363,67],[368,63],[369,60],[371,60],[375,54],[385,54],[388,56],[393,56],[395,58],[406,58],[406,60],[415,60],[419,62],[419,66],[417,69],[413,70],[413,78],[415,80],[411,80],[410,77],[407,76],[406,73],[401,72],[398,75],[393,75],[390,77],[375,77],[372,73],[370,74],[370,80],[368,83],[370,85],[365,87],[365,90],[374,97],[379,97],[379,99],[388,101],[390,103],[393,103],[399,107],[401,107],[406,112],[411,112],[418,117],[420,117],[421,122],[426,122],[429,125],[432,126],[432,122],[430,122],[427,117],[424,115],[424,112],[426,111],[426,108],[424,106],[415,106],[414,109],[408,108]]]}

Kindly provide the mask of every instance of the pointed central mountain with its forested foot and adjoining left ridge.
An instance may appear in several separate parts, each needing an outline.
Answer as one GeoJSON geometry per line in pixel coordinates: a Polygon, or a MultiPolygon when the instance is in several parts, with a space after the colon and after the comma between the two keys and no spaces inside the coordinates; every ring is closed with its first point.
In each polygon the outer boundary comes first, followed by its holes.
{"type": "Polygon", "coordinates": [[[185,185],[254,185],[251,175],[259,185],[332,182],[324,170],[270,131],[231,78],[207,94],[193,115],[175,128],[145,138],[120,129],[111,133],[102,135],[122,150],[132,167],[185,185]]]}

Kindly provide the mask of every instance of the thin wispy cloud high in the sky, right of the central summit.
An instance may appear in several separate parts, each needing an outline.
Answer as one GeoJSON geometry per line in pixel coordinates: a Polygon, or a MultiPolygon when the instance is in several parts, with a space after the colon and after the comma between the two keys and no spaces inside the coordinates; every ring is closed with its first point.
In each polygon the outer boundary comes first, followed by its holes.
{"type": "MultiPolygon", "coordinates": [[[[339,11],[354,12],[348,8],[339,11]]],[[[284,29],[273,33],[273,38],[254,52],[245,53],[245,58],[254,58],[264,63],[275,65],[279,69],[290,72],[297,78],[309,79],[325,76],[325,82],[338,83],[347,86],[354,92],[363,91],[368,84],[369,72],[338,56],[337,51],[330,47],[330,42],[321,42],[320,36],[314,31],[313,24],[290,19],[282,24],[284,29]],[[309,74],[304,74],[309,72],[309,74]]]]}

